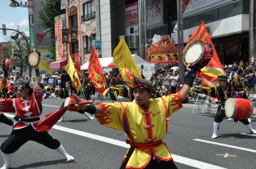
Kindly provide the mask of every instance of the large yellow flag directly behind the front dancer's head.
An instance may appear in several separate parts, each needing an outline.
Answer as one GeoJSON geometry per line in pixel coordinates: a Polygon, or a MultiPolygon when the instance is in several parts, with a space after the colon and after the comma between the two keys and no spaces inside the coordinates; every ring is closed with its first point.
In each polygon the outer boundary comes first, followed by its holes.
{"type": "Polygon", "coordinates": [[[132,86],[132,79],[134,77],[141,79],[138,66],[136,65],[132,53],[129,51],[123,37],[113,52],[113,63],[116,64],[124,81],[127,82],[129,86],[132,86]]]}

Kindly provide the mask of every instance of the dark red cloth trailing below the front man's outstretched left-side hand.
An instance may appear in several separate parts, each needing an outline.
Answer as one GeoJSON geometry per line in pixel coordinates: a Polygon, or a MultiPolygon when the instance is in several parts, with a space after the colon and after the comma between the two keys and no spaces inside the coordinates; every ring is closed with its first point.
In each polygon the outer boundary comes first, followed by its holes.
{"type": "Polygon", "coordinates": [[[63,114],[67,111],[67,106],[45,116],[41,122],[37,124],[37,131],[48,131],[53,127],[53,125],[58,122],[58,120],[63,116],[63,114]]]}

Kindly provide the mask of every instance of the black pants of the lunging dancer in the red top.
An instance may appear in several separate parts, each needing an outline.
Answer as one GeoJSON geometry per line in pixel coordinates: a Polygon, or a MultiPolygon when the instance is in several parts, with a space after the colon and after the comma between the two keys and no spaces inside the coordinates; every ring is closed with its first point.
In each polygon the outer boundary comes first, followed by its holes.
{"type": "Polygon", "coordinates": [[[19,130],[12,130],[9,138],[1,144],[1,151],[6,154],[14,153],[27,141],[36,141],[50,149],[57,149],[61,145],[61,143],[57,139],[53,139],[47,131],[37,132],[29,125],[19,130]]]}

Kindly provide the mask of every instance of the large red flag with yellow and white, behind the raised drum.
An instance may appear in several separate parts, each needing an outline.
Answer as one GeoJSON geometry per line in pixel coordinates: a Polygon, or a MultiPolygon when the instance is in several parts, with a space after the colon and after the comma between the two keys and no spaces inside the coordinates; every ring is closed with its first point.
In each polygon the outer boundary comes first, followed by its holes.
{"type": "MultiPolygon", "coordinates": [[[[202,41],[203,43],[209,43],[212,44],[212,47],[214,47],[214,44],[211,42],[211,38],[208,34],[208,31],[206,30],[206,26],[204,25],[203,21],[200,23],[199,27],[195,32],[192,34],[192,36],[189,38],[189,41],[187,42],[186,48],[189,46],[189,44],[192,44],[192,42],[195,41],[202,41]]],[[[203,87],[213,87],[218,84],[218,78],[219,75],[225,75],[224,70],[222,67],[222,63],[219,61],[219,57],[217,55],[217,52],[214,48],[214,55],[211,58],[211,61],[203,68],[200,69],[200,73],[197,73],[197,76],[200,78],[203,87]]]]}

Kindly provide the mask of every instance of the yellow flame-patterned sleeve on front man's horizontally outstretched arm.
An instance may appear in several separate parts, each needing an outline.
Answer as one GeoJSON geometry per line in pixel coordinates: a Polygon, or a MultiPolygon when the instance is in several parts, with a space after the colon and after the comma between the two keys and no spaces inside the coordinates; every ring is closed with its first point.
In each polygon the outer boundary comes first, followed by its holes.
{"type": "Polygon", "coordinates": [[[105,125],[116,130],[123,130],[123,109],[120,103],[100,103],[102,114],[95,114],[101,125],[105,125]]]}

